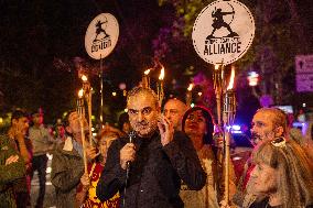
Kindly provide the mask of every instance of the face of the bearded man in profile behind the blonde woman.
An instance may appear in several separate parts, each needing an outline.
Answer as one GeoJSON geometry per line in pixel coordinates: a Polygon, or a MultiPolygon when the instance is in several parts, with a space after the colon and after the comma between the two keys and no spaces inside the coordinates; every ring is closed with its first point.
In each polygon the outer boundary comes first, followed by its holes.
{"type": "Polygon", "coordinates": [[[273,117],[274,114],[269,111],[259,111],[255,114],[251,123],[251,139],[255,144],[274,139],[273,117]]]}

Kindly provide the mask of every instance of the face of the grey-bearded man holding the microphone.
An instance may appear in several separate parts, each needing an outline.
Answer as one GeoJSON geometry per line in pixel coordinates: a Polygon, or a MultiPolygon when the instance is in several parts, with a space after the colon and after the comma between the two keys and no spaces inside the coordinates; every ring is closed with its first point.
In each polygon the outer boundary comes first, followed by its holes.
{"type": "Polygon", "coordinates": [[[148,138],[158,128],[160,110],[152,95],[139,92],[129,98],[127,103],[131,128],[139,136],[148,138]]]}

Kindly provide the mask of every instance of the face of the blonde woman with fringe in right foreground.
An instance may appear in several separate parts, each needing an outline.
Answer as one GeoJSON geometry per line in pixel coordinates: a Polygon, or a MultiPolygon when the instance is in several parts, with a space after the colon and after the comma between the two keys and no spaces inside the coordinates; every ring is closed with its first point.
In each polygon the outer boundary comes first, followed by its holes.
{"type": "Polygon", "coordinates": [[[251,172],[252,188],[256,194],[269,194],[277,189],[278,171],[265,163],[257,164],[251,172]]]}

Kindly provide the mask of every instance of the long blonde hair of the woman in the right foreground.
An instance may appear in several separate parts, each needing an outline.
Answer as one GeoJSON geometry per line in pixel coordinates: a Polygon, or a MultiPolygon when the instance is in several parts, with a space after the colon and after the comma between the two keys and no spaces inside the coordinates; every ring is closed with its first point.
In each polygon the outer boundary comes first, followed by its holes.
{"type": "Polygon", "coordinates": [[[281,138],[267,141],[257,146],[252,160],[277,171],[277,191],[283,208],[312,205],[313,164],[299,144],[281,138]]]}

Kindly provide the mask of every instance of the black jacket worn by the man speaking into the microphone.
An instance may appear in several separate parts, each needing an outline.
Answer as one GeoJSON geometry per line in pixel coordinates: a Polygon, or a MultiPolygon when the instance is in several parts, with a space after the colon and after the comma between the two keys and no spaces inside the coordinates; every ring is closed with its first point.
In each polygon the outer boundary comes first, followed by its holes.
{"type": "Polygon", "coordinates": [[[100,200],[109,199],[119,190],[127,208],[181,208],[184,207],[179,196],[181,179],[194,190],[205,185],[206,174],[191,140],[175,132],[174,140],[162,146],[160,134],[155,133],[150,139],[134,139],[136,161],[130,166],[125,196],[126,171],[120,166],[119,154],[128,141],[118,139],[108,151],[97,186],[100,200]]]}

